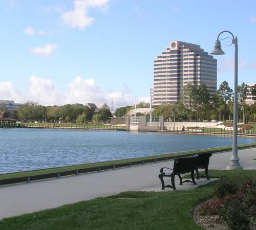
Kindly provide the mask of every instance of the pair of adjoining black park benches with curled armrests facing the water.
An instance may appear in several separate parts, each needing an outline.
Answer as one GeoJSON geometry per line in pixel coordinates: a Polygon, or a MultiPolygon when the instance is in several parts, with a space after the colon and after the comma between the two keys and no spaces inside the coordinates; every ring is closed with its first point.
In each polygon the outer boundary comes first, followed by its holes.
{"type": "Polygon", "coordinates": [[[198,169],[205,169],[205,177],[209,180],[208,165],[209,165],[210,156],[211,156],[211,153],[202,153],[202,154],[197,154],[191,157],[176,158],[174,160],[174,168],[170,169],[170,170],[173,170],[172,173],[165,173],[163,171],[164,169],[169,169],[169,168],[166,168],[166,167],[161,168],[160,174],[158,177],[162,183],[162,190],[164,190],[165,188],[172,188],[173,190],[176,190],[175,181],[174,181],[175,175],[177,175],[180,178],[180,185],[182,185],[182,183],[184,182],[193,182],[194,185],[196,185],[194,171],[196,170],[197,172],[197,179],[200,179],[198,169]],[[183,181],[181,178],[181,174],[185,174],[185,173],[191,173],[192,180],[183,181]],[[170,177],[172,185],[165,186],[163,177],[170,177]]]}

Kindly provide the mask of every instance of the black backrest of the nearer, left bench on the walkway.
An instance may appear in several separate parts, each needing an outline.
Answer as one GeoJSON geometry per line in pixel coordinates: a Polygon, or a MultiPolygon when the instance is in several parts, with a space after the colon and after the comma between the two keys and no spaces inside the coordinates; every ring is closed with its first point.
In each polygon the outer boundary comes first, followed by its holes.
{"type": "Polygon", "coordinates": [[[196,157],[182,157],[174,160],[175,174],[188,173],[194,170],[196,157]]]}

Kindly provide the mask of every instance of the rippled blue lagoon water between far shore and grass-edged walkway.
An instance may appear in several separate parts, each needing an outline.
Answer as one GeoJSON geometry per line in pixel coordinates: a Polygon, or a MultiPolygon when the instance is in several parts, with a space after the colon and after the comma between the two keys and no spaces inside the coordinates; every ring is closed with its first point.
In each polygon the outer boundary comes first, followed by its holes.
{"type": "Polygon", "coordinates": [[[0,135],[0,173],[232,145],[231,137],[155,132],[1,128],[0,135]]]}

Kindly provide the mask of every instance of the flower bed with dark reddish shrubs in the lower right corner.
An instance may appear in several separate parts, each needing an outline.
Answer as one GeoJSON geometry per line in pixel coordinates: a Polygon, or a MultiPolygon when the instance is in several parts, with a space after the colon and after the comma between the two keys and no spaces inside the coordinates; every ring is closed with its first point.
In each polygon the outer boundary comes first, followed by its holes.
{"type": "Polygon", "coordinates": [[[255,179],[221,180],[214,198],[201,203],[196,215],[198,223],[207,229],[218,229],[218,225],[219,229],[256,229],[255,179]]]}

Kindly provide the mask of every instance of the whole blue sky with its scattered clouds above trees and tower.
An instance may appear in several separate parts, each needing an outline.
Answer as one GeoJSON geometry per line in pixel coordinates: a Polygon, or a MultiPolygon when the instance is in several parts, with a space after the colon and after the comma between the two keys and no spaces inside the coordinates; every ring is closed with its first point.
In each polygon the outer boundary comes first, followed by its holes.
{"type": "MultiPolygon", "coordinates": [[[[256,83],[255,1],[2,0],[0,17],[0,100],[146,100],[154,59],[170,40],[210,52],[223,30],[238,36],[239,84],[256,83]]],[[[218,86],[233,86],[229,43],[217,57],[218,86]]]]}

